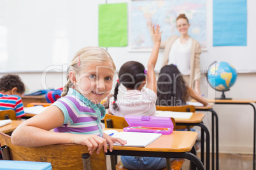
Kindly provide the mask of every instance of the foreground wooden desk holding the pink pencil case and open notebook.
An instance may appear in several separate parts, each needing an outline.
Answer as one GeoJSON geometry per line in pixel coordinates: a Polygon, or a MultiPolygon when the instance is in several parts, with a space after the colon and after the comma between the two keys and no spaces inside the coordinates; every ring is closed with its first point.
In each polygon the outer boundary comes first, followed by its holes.
{"type": "MultiPolygon", "coordinates": [[[[104,129],[108,130],[108,128],[104,129]]],[[[113,129],[111,129],[113,130],[113,129]]],[[[123,131],[123,129],[115,129],[123,131]]],[[[173,131],[169,135],[162,135],[157,140],[144,147],[120,147],[114,146],[113,152],[106,155],[131,155],[139,157],[166,157],[166,158],[185,158],[191,160],[197,169],[204,169],[201,160],[194,154],[190,153],[197,139],[197,133],[192,131],[173,131]]],[[[196,169],[192,164],[192,169],[196,169]]]]}

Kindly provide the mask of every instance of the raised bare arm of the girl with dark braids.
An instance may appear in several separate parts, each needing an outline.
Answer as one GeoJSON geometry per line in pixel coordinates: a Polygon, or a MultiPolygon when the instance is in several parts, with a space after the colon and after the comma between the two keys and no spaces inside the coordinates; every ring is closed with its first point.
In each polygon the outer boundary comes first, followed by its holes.
{"type": "Polygon", "coordinates": [[[150,55],[150,58],[148,59],[148,70],[147,70],[147,77],[148,77],[148,84],[146,85],[146,88],[152,89],[155,93],[157,93],[157,81],[155,79],[155,64],[157,63],[157,57],[159,53],[159,46],[161,42],[161,34],[162,32],[159,32],[160,26],[157,25],[157,29],[154,29],[153,27],[153,49],[152,53],[150,55]]]}

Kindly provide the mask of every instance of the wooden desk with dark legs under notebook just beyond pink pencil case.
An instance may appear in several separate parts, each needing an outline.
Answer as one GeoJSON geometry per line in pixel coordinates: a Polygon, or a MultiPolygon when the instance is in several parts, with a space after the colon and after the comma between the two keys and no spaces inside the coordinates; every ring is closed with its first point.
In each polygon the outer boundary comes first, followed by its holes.
{"type": "Polygon", "coordinates": [[[206,169],[210,169],[210,133],[203,124],[204,114],[193,113],[190,119],[175,119],[176,126],[201,127],[201,161],[204,164],[204,132],[206,133],[206,169]]]}

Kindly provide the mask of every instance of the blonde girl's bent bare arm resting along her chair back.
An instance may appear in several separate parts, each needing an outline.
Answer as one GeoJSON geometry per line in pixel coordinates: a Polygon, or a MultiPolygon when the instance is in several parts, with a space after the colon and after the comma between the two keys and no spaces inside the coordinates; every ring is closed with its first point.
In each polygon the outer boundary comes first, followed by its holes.
{"type": "Polygon", "coordinates": [[[62,111],[51,105],[39,115],[24,121],[11,135],[14,145],[24,147],[40,147],[43,145],[76,143],[89,147],[90,154],[96,150],[99,154],[101,148],[107,152],[107,143],[104,138],[94,134],[55,133],[50,131],[61,126],[64,122],[62,111]]]}

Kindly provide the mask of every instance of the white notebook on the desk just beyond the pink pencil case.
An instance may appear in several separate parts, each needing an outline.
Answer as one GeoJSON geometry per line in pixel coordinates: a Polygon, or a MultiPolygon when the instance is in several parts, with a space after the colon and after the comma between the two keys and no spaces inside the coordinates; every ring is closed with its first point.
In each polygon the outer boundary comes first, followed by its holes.
{"type": "Polygon", "coordinates": [[[155,116],[158,117],[173,117],[174,119],[190,119],[192,112],[171,112],[157,110],[155,116]]]}

